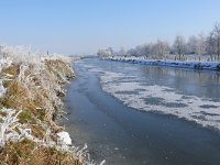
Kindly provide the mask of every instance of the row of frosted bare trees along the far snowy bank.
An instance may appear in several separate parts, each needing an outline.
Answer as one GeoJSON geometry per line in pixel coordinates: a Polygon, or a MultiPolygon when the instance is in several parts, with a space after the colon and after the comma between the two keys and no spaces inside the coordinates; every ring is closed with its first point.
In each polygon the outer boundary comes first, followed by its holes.
{"type": "Polygon", "coordinates": [[[145,43],[125,51],[114,51],[112,47],[99,50],[99,56],[144,56],[146,58],[166,59],[174,55],[175,59],[184,61],[186,55],[197,55],[199,61],[202,55],[209,55],[209,61],[220,61],[220,23],[213,25],[212,31],[206,36],[202,33],[186,38],[176,35],[173,44],[157,40],[155,43],[145,43]]]}

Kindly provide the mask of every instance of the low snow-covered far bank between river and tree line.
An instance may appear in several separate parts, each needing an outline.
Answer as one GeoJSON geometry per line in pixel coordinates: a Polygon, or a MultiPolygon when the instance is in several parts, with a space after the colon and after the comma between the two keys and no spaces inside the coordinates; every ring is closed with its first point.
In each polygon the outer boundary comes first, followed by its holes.
{"type": "Polygon", "coordinates": [[[190,68],[190,69],[210,69],[220,70],[220,62],[180,62],[180,61],[165,61],[165,59],[144,59],[139,57],[121,57],[112,56],[105,59],[114,62],[124,62],[133,64],[143,65],[155,65],[155,66],[167,66],[167,67],[178,67],[178,68],[190,68]]]}

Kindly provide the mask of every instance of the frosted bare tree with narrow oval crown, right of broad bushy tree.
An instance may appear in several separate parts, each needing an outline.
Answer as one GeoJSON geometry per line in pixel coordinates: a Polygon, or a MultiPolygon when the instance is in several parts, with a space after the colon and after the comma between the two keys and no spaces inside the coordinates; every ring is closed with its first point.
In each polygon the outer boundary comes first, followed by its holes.
{"type": "Polygon", "coordinates": [[[186,42],[185,42],[184,36],[182,35],[176,36],[176,40],[174,42],[174,47],[175,47],[175,52],[178,55],[178,59],[180,61],[186,50],[186,42]]]}

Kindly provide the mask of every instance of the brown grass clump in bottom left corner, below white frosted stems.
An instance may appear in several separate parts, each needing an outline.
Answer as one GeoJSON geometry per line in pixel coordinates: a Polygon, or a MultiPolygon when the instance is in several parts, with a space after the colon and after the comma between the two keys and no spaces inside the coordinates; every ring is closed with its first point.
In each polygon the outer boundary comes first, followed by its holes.
{"type": "Polygon", "coordinates": [[[8,143],[0,150],[0,165],[81,165],[70,153],[36,146],[29,140],[8,143]]]}

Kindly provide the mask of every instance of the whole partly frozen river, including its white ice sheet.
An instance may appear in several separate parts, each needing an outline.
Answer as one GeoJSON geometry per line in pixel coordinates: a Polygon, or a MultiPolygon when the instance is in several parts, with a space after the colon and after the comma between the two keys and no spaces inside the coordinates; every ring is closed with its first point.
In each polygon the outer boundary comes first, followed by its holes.
{"type": "Polygon", "coordinates": [[[220,164],[220,73],[97,58],[74,69],[65,125],[96,162],[220,164]]]}

